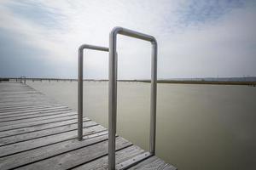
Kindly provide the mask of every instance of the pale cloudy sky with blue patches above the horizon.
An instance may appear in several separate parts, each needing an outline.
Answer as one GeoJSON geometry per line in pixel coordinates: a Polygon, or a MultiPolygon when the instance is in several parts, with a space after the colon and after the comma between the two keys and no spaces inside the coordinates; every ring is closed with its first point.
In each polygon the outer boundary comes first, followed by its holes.
{"type": "MultiPolygon", "coordinates": [[[[77,78],[79,46],[115,26],[157,39],[159,79],[256,76],[253,0],[0,0],[0,77],[77,78]]],[[[150,77],[150,42],[117,51],[119,79],[150,77]]],[[[108,78],[107,52],[84,51],[84,77],[108,78]]]]}

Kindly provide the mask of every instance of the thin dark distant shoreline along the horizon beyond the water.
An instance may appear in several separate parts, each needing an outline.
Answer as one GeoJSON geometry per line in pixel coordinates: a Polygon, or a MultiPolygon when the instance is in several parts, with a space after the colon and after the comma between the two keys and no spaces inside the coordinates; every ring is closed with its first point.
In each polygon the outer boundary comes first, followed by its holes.
{"type": "MultiPolygon", "coordinates": [[[[32,82],[77,82],[78,79],[67,79],[67,78],[26,78],[27,81],[32,82]]],[[[20,82],[20,77],[0,77],[0,82],[2,81],[15,81],[20,82]]],[[[108,82],[106,79],[84,79],[84,81],[89,82],[108,82]]],[[[118,82],[150,82],[150,80],[118,80],[118,82]]],[[[214,84],[214,85],[247,85],[247,86],[253,86],[256,87],[256,81],[208,81],[204,79],[196,79],[196,80],[158,80],[158,83],[173,83],[173,84],[214,84]]]]}

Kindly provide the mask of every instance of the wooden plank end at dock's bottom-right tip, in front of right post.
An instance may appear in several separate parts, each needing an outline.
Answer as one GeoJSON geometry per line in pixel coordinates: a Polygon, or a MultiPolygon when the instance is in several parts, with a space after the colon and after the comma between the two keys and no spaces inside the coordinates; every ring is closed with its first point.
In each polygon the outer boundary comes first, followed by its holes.
{"type": "Polygon", "coordinates": [[[176,167],[173,167],[170,164],[167,164],[165,161],[160,160],[156,156],[151,156],[147,160],[138,163],[137,165],[128,168],[130,170],[135,169],[147,169],[147,170],[177,170],[176,167]]]}

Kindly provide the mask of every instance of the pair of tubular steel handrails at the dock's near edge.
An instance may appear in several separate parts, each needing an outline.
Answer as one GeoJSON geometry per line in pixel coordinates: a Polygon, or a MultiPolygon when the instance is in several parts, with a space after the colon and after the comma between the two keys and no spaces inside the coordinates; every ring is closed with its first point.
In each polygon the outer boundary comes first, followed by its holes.
{"type": "Polygon", "coordinates": [[[134,37],[152,44],[151,57],[151,94],[150,94],[150,136],[149,155],[155,155],[155,132],[156,132],[156,93],[157,93],[157,42],[154,37],[137,31],[131,31],[122,27],[115,27],[109,35],[109,48],[84,44],[79,47],[79,81],[78,81],[78,139],[83,139],[83,58],[84,49],[109,51],[108,68],[108,169],[115,169],[115,135],[117,117],[117,68],[118,54],[116,49],[117,35],[121,34],[134,37]]]}

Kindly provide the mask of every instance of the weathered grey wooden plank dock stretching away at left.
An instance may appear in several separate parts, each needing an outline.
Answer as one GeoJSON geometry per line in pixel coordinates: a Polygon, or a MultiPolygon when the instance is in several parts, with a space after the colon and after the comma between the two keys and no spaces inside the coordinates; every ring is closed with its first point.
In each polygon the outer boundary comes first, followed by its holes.
{"type": "MultiPolygon", "coordinates": [[[[20,82],[0,82],[0,169],[108,169],[108,129],[20,82]]],[[[116,137],[117,169],[174,170],[156,156],[116,137]],[[137,164],[135,161],[140,160],[137,164]]]]}

